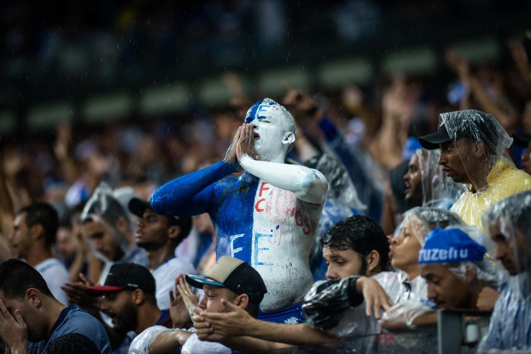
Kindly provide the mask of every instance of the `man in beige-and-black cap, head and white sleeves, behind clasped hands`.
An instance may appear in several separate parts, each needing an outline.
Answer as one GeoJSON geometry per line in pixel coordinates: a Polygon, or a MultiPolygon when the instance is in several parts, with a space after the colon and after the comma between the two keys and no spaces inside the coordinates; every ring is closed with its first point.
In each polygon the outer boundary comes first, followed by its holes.
{"type": "MultiPolygon", "coordinates": [[[[229,256],[219,258],[204,275],[186,274],[185,279],[191,286],[204,290],[205,296],[199,308],[206,312],[228,312],[228,307],[237,306],[256,318],[259,305],[267,293],[258,271],[229,256]]],[[[173,352],[179,346],[183,346],[183,354],[232,352],[219,343],[200,341],[195,333],[157,327],[145,330],[131,344],[134,352],[152,354],[173,352]]]]}

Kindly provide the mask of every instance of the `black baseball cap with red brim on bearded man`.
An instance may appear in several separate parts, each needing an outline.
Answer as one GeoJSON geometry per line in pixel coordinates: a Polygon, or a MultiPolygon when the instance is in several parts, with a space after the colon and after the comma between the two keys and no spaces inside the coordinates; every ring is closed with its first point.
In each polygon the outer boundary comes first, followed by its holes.
{"type": "Polygon", "coordinates": [[[105,292],[118,290],[136,290],[155,293],[155,278],[144,266],[135,263],[117,263],[110,267],[105,284],[87,287],[89,296],[101,296],[105,292]]]}

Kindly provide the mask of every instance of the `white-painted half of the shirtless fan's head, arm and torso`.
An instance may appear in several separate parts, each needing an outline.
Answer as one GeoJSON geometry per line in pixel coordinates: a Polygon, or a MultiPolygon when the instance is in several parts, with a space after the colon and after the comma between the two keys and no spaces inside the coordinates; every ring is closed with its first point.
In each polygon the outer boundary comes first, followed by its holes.
{"type": "MultiPolygon", "coordinates": [[[[254,107],[254,105],[253,105],[254,107]]],[[[251,265],[262,276],[268,293],[260,309],[270,312],[303,300],[313,278],[309,257],[323,208],[328,182],[321,172],[284,163],[295,143],[295,122],[289,112],[271,99],[247,111],[254,157],[239,164],[258,177],[253,210],[251,265]]],[[[239,235],[231,237],[231,245],[239,235]]],[[[231,248],[231,253],[238,248],[231,248]]]]}

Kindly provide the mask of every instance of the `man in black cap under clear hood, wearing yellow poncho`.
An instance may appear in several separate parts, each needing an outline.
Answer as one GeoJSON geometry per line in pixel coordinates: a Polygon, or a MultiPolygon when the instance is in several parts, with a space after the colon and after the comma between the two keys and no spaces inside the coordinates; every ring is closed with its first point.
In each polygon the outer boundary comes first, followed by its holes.
{"type": "Polygon", "coordinates": [[[506,151],[512,139],[490,114],[475,109],[443,113],[438,131],[419,142],[428,150],[440,148],[442,170],[467,185],[450,210],[479,231],[492,203],[531,189],[531,176],[518,170],[506,151]]]}

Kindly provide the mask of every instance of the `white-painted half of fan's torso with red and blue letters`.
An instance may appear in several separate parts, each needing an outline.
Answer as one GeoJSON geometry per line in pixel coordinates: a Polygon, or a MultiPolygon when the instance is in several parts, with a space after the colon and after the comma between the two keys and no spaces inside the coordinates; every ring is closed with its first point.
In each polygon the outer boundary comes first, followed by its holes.
{"type": "Polygon", "coordinates": [[[260,179],[254,199],[251,265],[269,290],[260,305],[262,311],[299,303],[310,290],[310,249],[322,207],[260,179]]]}

